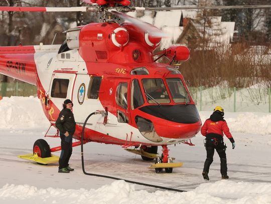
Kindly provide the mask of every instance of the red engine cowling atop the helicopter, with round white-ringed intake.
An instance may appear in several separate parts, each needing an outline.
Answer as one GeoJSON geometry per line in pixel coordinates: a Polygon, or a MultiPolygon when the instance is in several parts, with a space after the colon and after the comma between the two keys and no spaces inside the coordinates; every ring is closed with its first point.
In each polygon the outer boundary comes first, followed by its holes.
{"type": "Polygon", "coordinates": [[[130,39],[138,33],[132,32],[113,22],[88,24],[79,33],[79,54],[85,62],[153,62],[153,48],[130,39]]]}

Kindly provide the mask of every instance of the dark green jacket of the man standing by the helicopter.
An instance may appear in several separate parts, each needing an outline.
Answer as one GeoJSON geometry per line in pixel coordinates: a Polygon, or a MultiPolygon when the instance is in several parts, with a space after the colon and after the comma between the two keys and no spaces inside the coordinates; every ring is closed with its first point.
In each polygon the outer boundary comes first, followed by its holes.
{"type": "Polygon", "coordinates": [[[70,135],[73,135],[75,132],[75,125],[76,123],[72,111],[68,108],[63,108],[56,120],[57,129],[59,129],[60,133],[64,134],[68,131],[70,135]]]}

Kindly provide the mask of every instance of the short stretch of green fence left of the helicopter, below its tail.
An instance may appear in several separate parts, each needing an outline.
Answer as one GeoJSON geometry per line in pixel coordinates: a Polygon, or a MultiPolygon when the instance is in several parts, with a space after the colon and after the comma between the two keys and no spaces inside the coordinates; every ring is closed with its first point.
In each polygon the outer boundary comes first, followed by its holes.
{"type": "Polygon", "coordinates": [[[0,82],[0,96],[37,96],[37,87],[22,82],[0,82]]]}

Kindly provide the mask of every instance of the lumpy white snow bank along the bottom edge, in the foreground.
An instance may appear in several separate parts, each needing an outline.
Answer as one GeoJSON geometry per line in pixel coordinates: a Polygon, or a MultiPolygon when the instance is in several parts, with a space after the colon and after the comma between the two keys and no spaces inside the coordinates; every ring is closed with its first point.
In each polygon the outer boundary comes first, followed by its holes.
{"type": "Polygon", "coordinates": [[[204,183],[192,191],[148,192],[117,180],[98,189],[38,189],[30,185],[6,184],[0,189],[4,203],[270,203],[271,184],[229,180],[204,183]]]}

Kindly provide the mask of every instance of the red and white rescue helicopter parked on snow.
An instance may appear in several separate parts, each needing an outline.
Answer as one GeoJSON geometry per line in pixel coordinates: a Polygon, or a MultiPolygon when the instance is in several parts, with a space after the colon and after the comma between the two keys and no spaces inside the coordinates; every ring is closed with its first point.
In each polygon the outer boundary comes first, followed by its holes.
{"type": "MultiPolygon", "coordinates": [[[[76,120],[73,137],[79,140],[73,146],[81,144],[85,119],[94,112],[86,123],[83,143],[136,147],[128,150],[142,155],[144,160],[155,158],[156,172],[162,168],[172,172],[181,164],[172,162],[167,145],[192,145],[187,140],[198,133],[201,119],[182,74],[175,67],[156,61],[162,56],[170,62],[185,61],[189,50],[175,46],[155,55],[163,34],[154,26],[121,13],[137,10],[127,7],[129,1],[92,3],[96,5],[0,8],[22,12],[103,12],[107,17],[100,23],[69,29],[62,45],[0,47],[0,73],[37,86],[50,127],[55,126],[63,101],[71,99],[76,120]],[[111,15],[132,23],[119,24],[111,15]],[[158,146],[163,147],[162,156],[157,155],[158,146]]],[[[45,136],[49,136],[47,133],[45,136]]],[[[34,155],[22,158],[50,163],[57,160],[51,155],[57,150],[61,147],[50,149],[45,140],[39,139],[33,147],[34,155]]]]}

